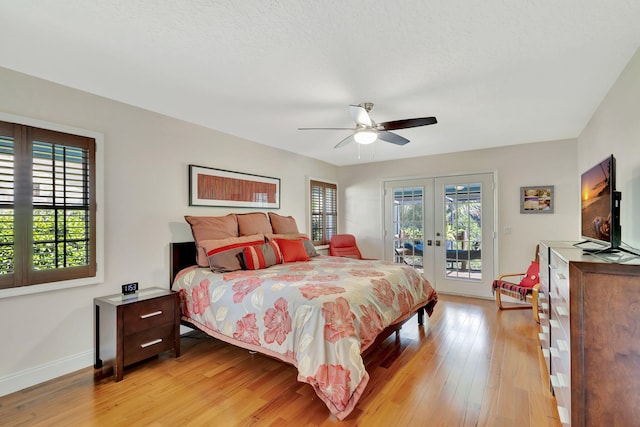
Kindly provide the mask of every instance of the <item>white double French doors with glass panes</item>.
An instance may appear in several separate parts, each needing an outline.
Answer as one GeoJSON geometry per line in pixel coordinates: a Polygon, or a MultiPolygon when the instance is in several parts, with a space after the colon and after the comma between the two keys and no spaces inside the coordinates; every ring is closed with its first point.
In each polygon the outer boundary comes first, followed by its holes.
{"type": "Polygon", "coordinates": [[[421,270],[440,292],[489,297],[493,182],[492,173],[385,182],[385,259],[421,270]]]}

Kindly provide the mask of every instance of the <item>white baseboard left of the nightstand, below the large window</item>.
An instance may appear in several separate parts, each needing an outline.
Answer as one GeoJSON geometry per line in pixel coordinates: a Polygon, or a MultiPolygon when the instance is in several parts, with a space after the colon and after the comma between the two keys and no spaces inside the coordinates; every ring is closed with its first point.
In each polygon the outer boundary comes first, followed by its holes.
{"type": "Polygon", "coordinates": [[[19,390],[52,380],[69,374],[87,366],[93,366],[94,350],[87,350],[40,366],[0,377],[0,396],[5,396],[19,390]]]}

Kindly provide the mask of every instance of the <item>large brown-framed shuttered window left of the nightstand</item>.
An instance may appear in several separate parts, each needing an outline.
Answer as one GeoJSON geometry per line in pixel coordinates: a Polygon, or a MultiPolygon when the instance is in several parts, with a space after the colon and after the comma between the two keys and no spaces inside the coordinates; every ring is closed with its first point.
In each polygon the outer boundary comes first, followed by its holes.
{"type": "Polygon", "coordinates": [[[0,289],[96,275],[95,151],[0,121],[0,289]]]}

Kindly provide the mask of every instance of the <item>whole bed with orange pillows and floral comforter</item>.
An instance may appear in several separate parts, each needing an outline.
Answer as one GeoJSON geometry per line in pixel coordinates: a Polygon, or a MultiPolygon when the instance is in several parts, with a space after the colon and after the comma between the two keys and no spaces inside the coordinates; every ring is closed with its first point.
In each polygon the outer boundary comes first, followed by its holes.
{"type": "Polygon", "coordinates": [[[185,220],[195,244],[172,243],[170,268],[182,322],[294,365],[339,419],[369,381],[364,354],[438,300],[406,264],[319,255],[291,216],[185,220]]]}

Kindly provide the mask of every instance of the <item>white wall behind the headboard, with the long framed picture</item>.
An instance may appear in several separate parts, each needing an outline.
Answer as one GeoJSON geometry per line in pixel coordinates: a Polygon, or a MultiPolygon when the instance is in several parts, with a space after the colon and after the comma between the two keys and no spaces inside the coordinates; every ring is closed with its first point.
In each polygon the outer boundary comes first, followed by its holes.
{"type": "MultiPolygon", "coordinates": [[[[184,215],[251,211],[188,206],[189,164],[281,179],[283,215],[307,230],[306,176],[337,167],[0,68],[0,111],[104,134],[104,283],[0,298],[0,395],[93,364],[93,298],[132,281],[169,286],[169,242],[184,215]]],[[[215,114],[212,111],[211,114],[215,114]]]]}

